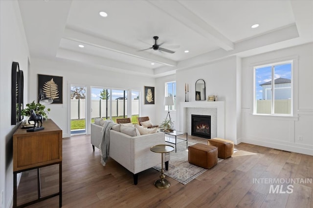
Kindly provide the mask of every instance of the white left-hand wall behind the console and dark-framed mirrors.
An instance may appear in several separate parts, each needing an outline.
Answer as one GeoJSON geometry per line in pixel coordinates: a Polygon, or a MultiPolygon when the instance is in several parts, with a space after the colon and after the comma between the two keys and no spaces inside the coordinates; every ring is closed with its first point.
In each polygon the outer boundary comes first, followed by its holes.
{"type": "Polygon", "coordinates": [[[11,125],[11,68],[19,62],[24,73],[24,103],[27,99],[28,47],[17,1],[0,1],[0,207],[13,206],[13,141],[18,125],[11,125]]]}

